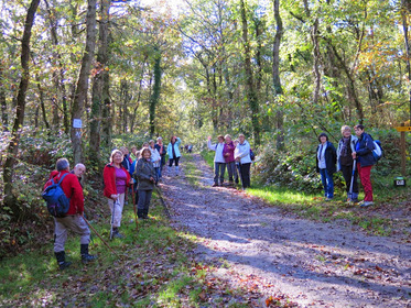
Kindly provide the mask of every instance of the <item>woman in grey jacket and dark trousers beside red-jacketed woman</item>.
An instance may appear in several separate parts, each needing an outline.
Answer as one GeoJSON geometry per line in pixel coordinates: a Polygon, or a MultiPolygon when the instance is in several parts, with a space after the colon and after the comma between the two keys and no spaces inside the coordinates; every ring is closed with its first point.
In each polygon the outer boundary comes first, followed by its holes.
{"type": "Polygon", "coordinates": [[[140,219],[148,219],[151,194],[155,183],[155,170],[151,161],[150,148],[141,150],[141,158],[137,163],[134,173],[139,179],[139,185],[137,187],[139,191],[137,216],[140,219]]]}

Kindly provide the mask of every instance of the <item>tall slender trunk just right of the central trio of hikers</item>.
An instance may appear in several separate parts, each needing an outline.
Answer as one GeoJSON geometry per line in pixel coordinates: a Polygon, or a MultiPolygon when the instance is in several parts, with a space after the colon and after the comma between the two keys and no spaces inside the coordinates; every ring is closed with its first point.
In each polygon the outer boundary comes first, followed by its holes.
{"type": "MultiPolygon", "coordinates": [[[[283,26],[280,16],[280,0],[274,0],[273,4],[277,32],[274,36],[274,44],[272,47],[272,82],[274,88],[274,96],[279,98],[283,95],[280,79],[280,44],[283,34],[283,26]]],[[[277,102],[280,103],[278,99],[277,102]]],[[[277,148],[282,151],[284,150],[284,113],[281,106],[278,106],[277,110],[277,148]]]]}

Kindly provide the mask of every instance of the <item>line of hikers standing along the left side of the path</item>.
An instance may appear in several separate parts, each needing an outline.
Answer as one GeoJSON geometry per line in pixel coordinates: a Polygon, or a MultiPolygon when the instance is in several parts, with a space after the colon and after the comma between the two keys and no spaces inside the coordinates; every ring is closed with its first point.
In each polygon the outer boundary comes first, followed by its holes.
{"type": "MultiPolygon", "coordinates": [[[[179,161],[181,157],[177,136],[172,136],[165,148],[162,138],[144,142],[140,151],[131,148],[131,154],[126,146],[113,150],[110,155],[110,163],[104,168],[104,195],[108,199],[111,212],[110,238],[123,238],[119,232],[121,226],[125,200],[129,191],[134,197],[132,202],[138,205],[138,218],[148,219],[151,194],[154,185],[162,178],[162,169],[165,165],[165,155],[169,155],[169,174],[179,175],[179,161]],[[173,170],[174,166],[174,170],[173,170]]],[[[60,270],[68,267],[72,263],[65,258],[65,242],[67,231],[79,234],[82,262],[88,263],[97,258],[88,253],[90,231],[87,220],[84,217],[84,195],[82,177],[86,172],[84,164],[77,164],[73,170],[69,168],[67,158],[60,158],[56,162],[56,169],[50,174],[50,179],[44,189],[54,183],[60,183],[66,198],[69,199],[69,207],[64,217],[54,217],[54,254],[60,270]],[[63,180],[64,179],[64,180],[63,180]]]]}

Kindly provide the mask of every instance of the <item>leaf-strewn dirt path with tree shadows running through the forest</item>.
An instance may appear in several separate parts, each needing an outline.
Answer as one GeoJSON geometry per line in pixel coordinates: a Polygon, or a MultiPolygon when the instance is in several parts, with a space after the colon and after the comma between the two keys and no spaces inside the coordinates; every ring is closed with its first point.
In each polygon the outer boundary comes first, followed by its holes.
{"type": "MultiPolygon", "coordinates": [[[[285,294],[301,307],[411,307],[411,244],[349,227],[284,216],[229,188],[212,188],[213,170],[193,155],[199,186],[184,177],[161,185],[176,227],[203,239],[219,275],[252,277],[263,294],[285,294]],[[224,266],[223,266],[224,267],[224,266]]],[[[261,307],[264,307],[261,300],[261,307]]]]}

